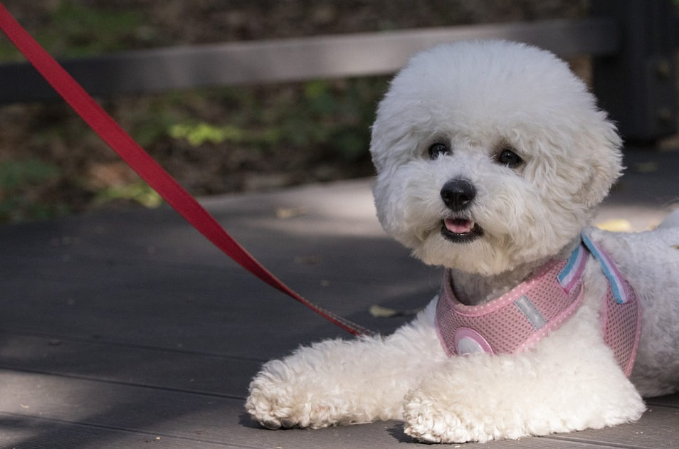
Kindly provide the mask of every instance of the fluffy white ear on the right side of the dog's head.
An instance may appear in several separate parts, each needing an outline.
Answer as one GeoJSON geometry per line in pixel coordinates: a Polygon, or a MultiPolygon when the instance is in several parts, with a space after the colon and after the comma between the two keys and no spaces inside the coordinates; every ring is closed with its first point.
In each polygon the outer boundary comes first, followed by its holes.
{"type": "Polygon", "coordinates": [[[622,139],[616,125],[606,119],[606,112],[600,111],[602,120],[590,123],[578,139],[581,151],[590,154],[589,176],[586,176],[581,192],[588,208],[594,208],[606,198],[611,187],[623,171],[622,139]]]}

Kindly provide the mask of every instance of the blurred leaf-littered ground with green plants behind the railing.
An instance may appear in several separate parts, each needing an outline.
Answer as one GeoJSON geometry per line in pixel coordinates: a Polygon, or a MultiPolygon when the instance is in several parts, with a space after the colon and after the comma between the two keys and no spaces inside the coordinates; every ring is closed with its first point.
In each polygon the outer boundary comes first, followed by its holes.
{"type": "MultiPolygon", "coordinates": [[[[4,4],[55,56],[576,18],[587,8],[586,1],[565,0],[6,0],[4,4]]],[[[6,42],[2,44],[4,60],[21,60],[6,42]]],[[[369,176],[373,172],[367,152],[369,125],[387,82],[387,78],[330,80],[100,102],[191,194],[204,196],[369,176]],[[198,136],[201,130],[207,137],[198,136]],[[220,138],[211,138],[210,132],[220,138]],[[198,137],[191,141],[191,135],[198,137]]],[[[0,107],[0,221],[137,203],[157,201],[63,103],[0,107]]]]}

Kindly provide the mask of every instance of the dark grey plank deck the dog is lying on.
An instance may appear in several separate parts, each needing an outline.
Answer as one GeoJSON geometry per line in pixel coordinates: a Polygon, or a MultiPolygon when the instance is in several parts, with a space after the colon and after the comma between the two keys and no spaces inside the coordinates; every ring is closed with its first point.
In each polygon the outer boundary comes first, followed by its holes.
{"type": "MultiPolygon", "coordinates": [[[[601,218],[641,229],[679,196],[679,152],[633,152],[628,166],[601,218]],[[657,171],[635,172],[651,160],[657,171]]],[[[438,270],[379,228],[368,181],[204,204],[302,295],[369,328],[391,332],[406,319],[370,317],[370,305],[411,309],[438,288],[438,270]]],[[[346,334],[245,273],[168,208],[2,226],[0,270],[2,448],[419,446],[396,421],[252,423],[243,399],[263,361],[346,334]]],[[[648,404],[638,423],[487,446],[679,448],[679,396],[648,404]]]]}

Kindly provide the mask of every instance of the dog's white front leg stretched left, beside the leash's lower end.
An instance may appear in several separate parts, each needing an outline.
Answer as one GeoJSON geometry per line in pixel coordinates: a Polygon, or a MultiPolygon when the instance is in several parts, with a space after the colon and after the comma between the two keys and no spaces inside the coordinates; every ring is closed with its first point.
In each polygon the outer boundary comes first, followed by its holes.
{"type": "Polygon", "coordinates": [[[428,307],[389,337],[329,340],[269,361],[246,409],[268,428],[401,419],[405,394],[445,362],[428,307]]]}

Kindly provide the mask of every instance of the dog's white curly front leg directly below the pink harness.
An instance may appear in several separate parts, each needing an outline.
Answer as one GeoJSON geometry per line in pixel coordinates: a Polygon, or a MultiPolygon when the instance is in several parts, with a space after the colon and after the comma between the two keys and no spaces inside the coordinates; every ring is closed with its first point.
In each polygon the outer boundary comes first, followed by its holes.
{"type": "Polygon", "coordinates": [[[601,428],[641,416],[641,396],[603,342],[561,349],[569,353],[450,359],[406,395],[406,433],[431,443],[483,442],[601,428]]]}

